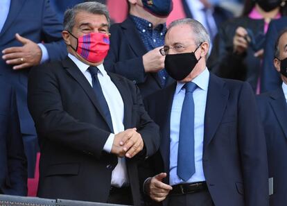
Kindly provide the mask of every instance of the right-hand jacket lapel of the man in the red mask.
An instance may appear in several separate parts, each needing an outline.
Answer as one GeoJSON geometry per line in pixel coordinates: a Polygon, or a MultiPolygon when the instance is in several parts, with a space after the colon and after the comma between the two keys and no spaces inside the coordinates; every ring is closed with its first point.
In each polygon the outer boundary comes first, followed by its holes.
{"type": "Polygon", "coordinates": [[[114,76],[114,74],[108,73],[110,76],[112,82],[114,85],[116,85],[116,88],[119,90],[119,93],[121,94],[121,98],[123,99],[123,126],[125,127],[125,130],[128,128],[131,128],[131,121],[132,121],[132,105],[128,99],[130,98],[128,89],[123,85],[123,81],[118,78],[117,76],[114,76]]]}

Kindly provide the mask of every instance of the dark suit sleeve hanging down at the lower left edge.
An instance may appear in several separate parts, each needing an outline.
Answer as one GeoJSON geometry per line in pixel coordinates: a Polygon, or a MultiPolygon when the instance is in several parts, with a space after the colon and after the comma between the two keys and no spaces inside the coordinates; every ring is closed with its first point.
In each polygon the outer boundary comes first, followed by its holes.
{"type": "Polygon", "coordinates": [[[20,132],[16,96],[14,90],[11,91],[10,117],[7,135],[8,173],[11,187],[6,190],[6,193],[10,195],[26,196],[27,161],[20,132]]]}

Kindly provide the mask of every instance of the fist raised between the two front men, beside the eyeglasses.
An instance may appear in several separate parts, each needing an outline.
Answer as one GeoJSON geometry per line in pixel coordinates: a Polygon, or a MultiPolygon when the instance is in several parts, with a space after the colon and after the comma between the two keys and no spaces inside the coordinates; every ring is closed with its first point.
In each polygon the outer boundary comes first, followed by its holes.
{"type": "Polygon", "coordinates": [[[159,52],[162,46],[159,46],[143,55],[143,67],[146,72],[157,72],[164,69],[164,60],[166,56],[159,52]]]}

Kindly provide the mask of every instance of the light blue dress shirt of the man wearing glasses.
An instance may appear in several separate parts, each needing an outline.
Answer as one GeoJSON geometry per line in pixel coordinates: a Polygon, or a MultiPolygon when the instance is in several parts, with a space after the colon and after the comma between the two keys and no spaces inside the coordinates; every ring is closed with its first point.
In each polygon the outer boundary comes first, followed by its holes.
{"type": "MultiPolygon", "coordinates": [[[[194,114],[194,157],[195,173],[187,182],[205,181],[205,174],[202,166],[203,136],[205,129],[205,106],[207,102],[207,90],[209,85],[209,71],[204,71],[192,80],[198,87],[193,92],[195,107],[194,114]]],[[[169,183],[171,185],[186,183],[177,176],[177,150],[180,134],[180,116],[182,113],[182,103],[184,101],[185,89],[184,83],[177,82],[175,94],[173,96],[173,105],[171,108],[171,155],[169,166],[169,183]]]]}

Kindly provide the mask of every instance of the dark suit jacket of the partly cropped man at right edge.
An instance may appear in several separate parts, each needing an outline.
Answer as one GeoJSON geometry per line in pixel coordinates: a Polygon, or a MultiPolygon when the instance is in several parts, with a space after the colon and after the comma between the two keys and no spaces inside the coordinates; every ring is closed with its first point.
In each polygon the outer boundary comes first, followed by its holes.
{"type": "Polygon", "coordinates": [[[268,151],[269,178],[273,178],[271,206],[287,205],[287,104],[282,88],[257,96],[268,151]]]}

